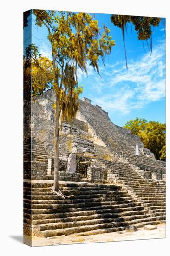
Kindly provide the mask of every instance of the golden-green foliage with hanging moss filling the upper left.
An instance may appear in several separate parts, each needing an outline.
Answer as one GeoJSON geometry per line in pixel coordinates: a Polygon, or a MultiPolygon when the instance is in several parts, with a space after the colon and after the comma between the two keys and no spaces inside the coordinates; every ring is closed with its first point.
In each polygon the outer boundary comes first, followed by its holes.
{"type": "Polygon", "coordinates": [[[26,49],[33,68],[32,95],[41,94],[49,86],[54,88],[59,101],[56,113],[60,120],[71,122],[78,111],[78,95],[83,90],[78,87],[78,69],[87,73],[90,63],[99,74],[99,58],[104,61],[115,42],[105,26],[100,35],[98,21],[88,13],[59,12],[57,15],[54,11],[33,10],[33,14],[35,24],[47,28],[52,61],[42,58],[33,45],[26,49]]]}

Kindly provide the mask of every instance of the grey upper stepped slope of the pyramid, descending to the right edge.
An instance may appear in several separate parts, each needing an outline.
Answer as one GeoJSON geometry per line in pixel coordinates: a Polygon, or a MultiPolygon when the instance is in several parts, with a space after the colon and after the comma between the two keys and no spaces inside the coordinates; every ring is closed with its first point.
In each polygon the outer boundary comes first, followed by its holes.
{"type": "Polygon", "coordinates": [[[79,111],[95,134],[105,143],[112,155],[112,160],[123,158],[141,170],[165,173],[165,166],[145,155],[135,155],[135,145],[139,148],[144,145],[140,138],[128,132],[127,129],[119,127],[111,122],[108,115],[102,109],[80,101],[79,111]]]}

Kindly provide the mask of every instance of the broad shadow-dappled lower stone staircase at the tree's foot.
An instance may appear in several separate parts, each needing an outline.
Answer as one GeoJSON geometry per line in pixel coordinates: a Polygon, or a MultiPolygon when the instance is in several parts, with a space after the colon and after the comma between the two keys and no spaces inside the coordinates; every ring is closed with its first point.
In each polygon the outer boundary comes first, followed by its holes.
{"type": "Polygon", "coordinates": [[[33,236],[85,236],[159,224],[121,186],[59,183],[65,199],[52,192],[52,181],[24,182],[24,225],[26,230],[32,224],[33,236]]]}

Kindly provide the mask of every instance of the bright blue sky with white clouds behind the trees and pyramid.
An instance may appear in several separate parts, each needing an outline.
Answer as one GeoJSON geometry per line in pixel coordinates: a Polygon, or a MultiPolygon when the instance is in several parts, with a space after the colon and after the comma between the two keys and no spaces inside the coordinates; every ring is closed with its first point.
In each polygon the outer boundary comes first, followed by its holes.
{"type": "MultiPolygon", "coordinates": [[[[116,45],[105,58],[105,66],[99,62],[102,78],[88,66],[88,76],[78,73],[78,84],[84,86],[80,96],[92,100],[108,112],[111,121],[123,126],[136,117],[165,122],[165,32],[163,23],[154,27],[153,52],[150,55],[146,42],[137,39],[133,25],[125,34],[128,71],[125,65],[122,31],[111,23],[111,14],[95,14],[99,27],[105,24],[111,30],[116,45]]],[[[39,28],[32,19],[32,43],[39,52],[51,58],[47,29],[39,28]]]]}

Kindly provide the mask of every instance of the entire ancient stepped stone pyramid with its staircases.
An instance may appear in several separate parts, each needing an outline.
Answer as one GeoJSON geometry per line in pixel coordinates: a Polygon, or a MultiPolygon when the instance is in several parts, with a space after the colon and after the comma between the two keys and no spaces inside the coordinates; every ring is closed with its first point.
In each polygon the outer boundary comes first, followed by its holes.
{"type": "Polygon", "coordinates": [[[53,101],[51,89],[25,102],[25,234],[93,235],[165,222],[165,162],[87,98],[79,100],[72,125],[63,123],[59,185],[65,199],[53,194],[53,101]]]}

